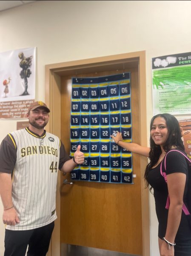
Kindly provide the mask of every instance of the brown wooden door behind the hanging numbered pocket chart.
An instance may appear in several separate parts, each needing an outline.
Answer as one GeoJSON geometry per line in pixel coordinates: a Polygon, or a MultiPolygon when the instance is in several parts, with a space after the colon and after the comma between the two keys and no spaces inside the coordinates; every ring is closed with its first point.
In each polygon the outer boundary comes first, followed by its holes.
{"type": "MultiPolygon", "coordinates": [[[[140,143],[140,91],[138,67],[131,72],[132,138],[140,143]]],[[[82,77],[121,73],[107,71],[82,77]]],[[[79,77],[79,76],[78,76],[79,77]]],[[[70,151],[71,77],[61,77],[61,140],[70,151]]],[[[61,243],[143,255],[140,156],[133,154],[134,184],[74,181],[62,185],[61,243]]],[[[149,238],[148,238],[149,239],[149,238]]]]}

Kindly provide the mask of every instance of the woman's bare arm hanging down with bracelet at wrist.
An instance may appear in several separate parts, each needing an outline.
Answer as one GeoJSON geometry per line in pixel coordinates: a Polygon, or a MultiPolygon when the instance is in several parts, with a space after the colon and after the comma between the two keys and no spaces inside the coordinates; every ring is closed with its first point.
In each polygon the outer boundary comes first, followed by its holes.
{"type": "MultiPolygon", "coordinates": [[[[168,184],[168,195],[170,197],[170,207],[168,209],[168,222],[165,233],[165,239],[174,244],[174,239],[180,225],[182,215],[183,195],[185,189],[186,175],[176,172],[166,176],[168,184]]],[[[162,256],[174,256],[174,248],[166,244],[165,241],[161,245],[162,256]]]]}

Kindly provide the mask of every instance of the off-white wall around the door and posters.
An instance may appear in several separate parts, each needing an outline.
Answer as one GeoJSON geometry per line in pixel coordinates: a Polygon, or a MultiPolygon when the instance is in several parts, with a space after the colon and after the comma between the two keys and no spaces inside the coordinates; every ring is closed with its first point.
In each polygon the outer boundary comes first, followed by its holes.
{"type": "MultiPolygon", "coordinates": [[[[37,47],[36,99],[44,100],[46,64],[145,50],[149,127],[151,58],[191,51],[190,10],[184,0],[34,2],[0,12],[0,52],[37,47]]],[[[0,141],[16,122],[0,120],[0,141]]],[[[151,256],[158,256],[153,195],[150,212],[151,256]]],[[[3,234],[0,222],[0,255],[3,234]]]]}

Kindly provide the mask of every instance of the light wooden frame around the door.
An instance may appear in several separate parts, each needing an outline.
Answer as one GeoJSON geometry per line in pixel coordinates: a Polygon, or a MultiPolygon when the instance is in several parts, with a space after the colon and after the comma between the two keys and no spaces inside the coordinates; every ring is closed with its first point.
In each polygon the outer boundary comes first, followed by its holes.
{"type": "MultiPolygon", "coordinates": [[[[87,73],[87,70],[92,72],[92,70],[108,70],[111,69],[111,67],[119,67],[123,72],[124,67],[126,68],[128,65],[136,66],[139,70],[139,95],[137,96],[139,97],[140,101],[140,144],[147,146],[145,51],[46,65],[45,102],[51,109],[46,130],[57,135],[58,137],[61,137],[61,76],[77,76],[78,74],[87,73]]],[[[140,171],[143,177],[146,166],[145,157],[140,157],[140,166],[140,171]]],[[[56,201],[58,219],[55,222],[54,235],[51,239],[51,246],[48,256],[60,256],[60,183],[60,175],[58,175],[56,201]]],[[[145,182],[143,179],[141,179],[141,192],[143,256],[150,256],[149,197],[148,189],[145,189],[145,182]]]]}

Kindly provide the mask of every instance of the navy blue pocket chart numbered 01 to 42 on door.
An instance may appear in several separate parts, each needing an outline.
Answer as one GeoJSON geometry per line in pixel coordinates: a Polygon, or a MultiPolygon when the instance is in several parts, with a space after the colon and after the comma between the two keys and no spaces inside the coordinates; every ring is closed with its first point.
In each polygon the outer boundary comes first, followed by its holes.
{"type": "Polygon", "coordinates": [[[110,137],[117,131],[132,141],[131,73],[72,78],[70,156],[78,145],[85,155],[72,180],[133,184],[132,154],[110,137]]]}

